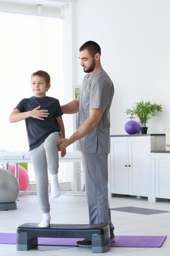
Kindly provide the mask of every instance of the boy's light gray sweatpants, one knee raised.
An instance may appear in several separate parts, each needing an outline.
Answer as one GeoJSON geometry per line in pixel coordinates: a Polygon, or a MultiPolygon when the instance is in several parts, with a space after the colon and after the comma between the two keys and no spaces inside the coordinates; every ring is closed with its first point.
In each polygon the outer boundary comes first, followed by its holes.
{"type": "Polygon", "coordinates": [[[37,196],[42,213],[50,211],[48,198],[48,170],[50,174],[58,173],[59,153],[57,149],[57,140],[60,139],[59,132],[53,132],[38,148],[29,151],[36,177],[37,196]]]}

